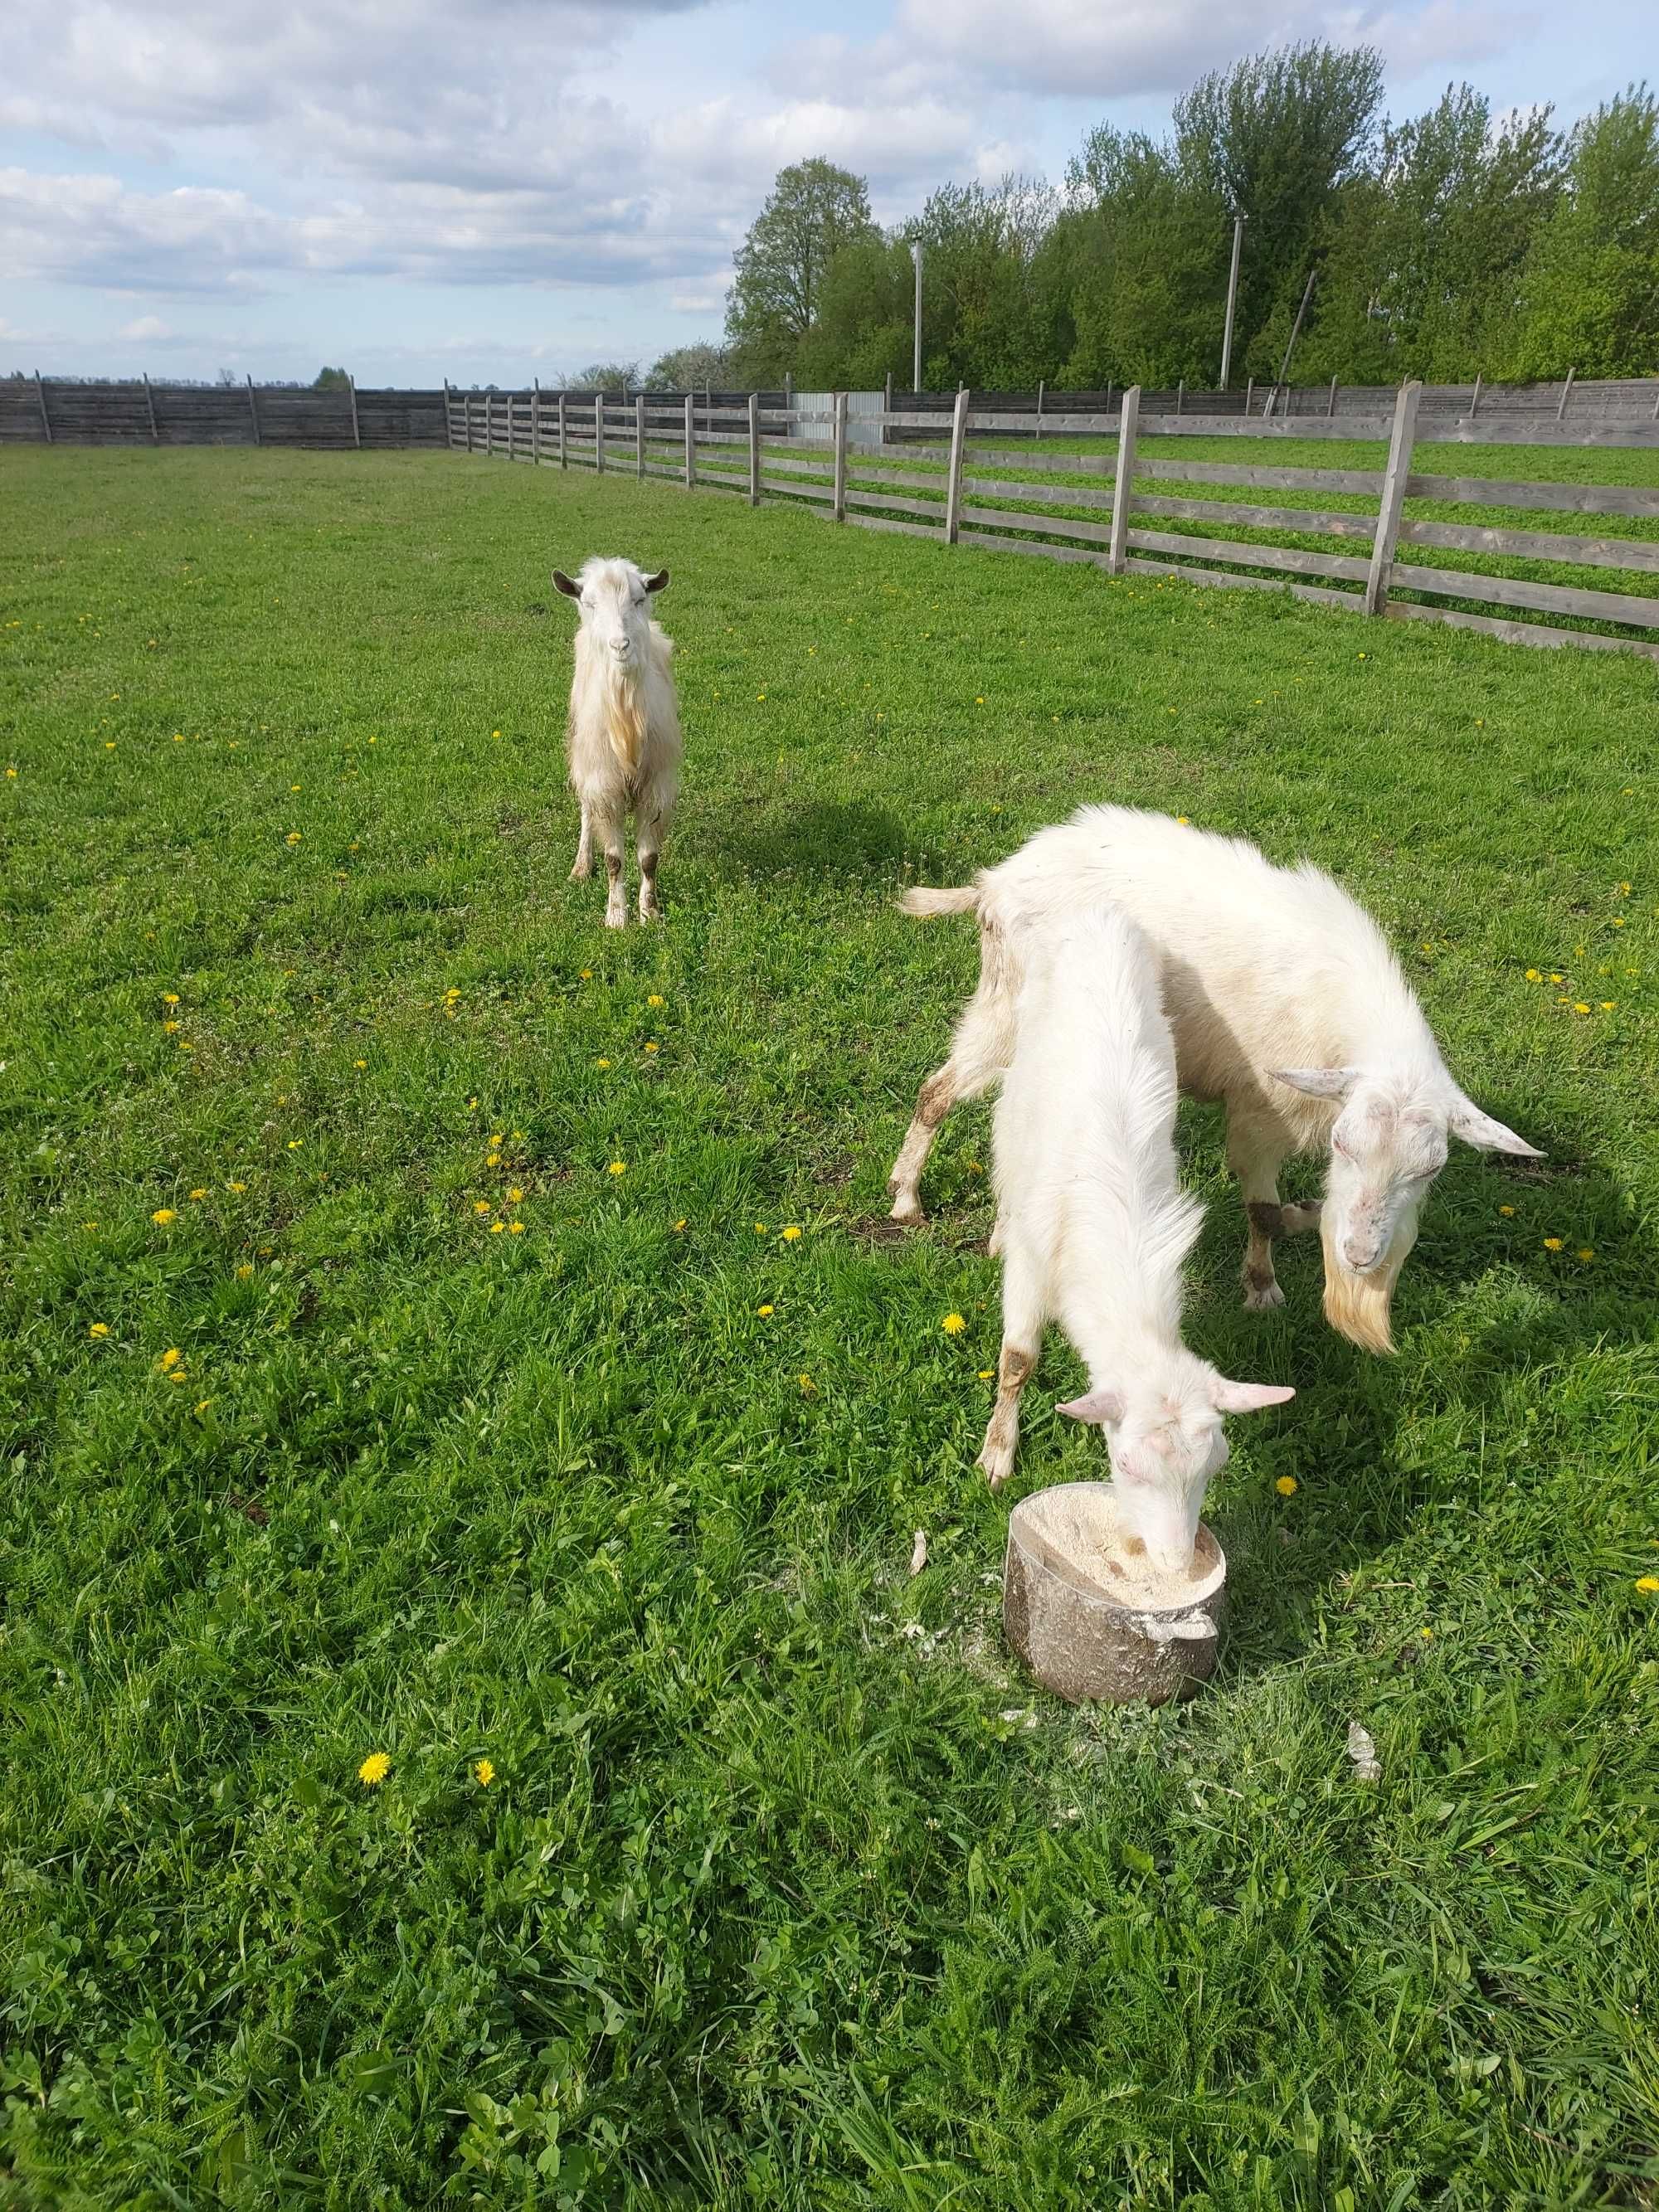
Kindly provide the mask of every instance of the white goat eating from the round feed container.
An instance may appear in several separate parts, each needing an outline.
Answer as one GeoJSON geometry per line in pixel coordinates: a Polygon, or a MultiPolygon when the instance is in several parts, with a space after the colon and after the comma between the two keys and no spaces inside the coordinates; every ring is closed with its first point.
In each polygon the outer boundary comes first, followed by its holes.
{"type": "Polygon", "coordinates": [[[1020,933],[1013,1060],[995,1110],[1002,1358],[980,1467],[1013,1467],[1020,1391],[1060,1321],[1091,1389],[1062,1405],[1106,1429],[1119,1528],[1166,1573],[1192,1566],[1223,1413],[1296,1394],[1228,1383],[1181,1343],[1181,1261],[1203,1210],[1175,1172],[1175,1040],[1157,956],[1113,907],[1020,933]]]}

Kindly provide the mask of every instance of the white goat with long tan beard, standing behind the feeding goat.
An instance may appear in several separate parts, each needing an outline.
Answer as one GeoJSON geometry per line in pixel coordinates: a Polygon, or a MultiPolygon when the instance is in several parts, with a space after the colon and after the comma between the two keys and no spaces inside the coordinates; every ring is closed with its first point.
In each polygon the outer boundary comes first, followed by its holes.
{"type": "Polygon", "coordinates": [[[967,889],[900,898],[907,914],[978,909],[982,942],[980,987],[894,1164],[894,1219],[920,1221],[922,1164],[953,1099],[1009,1064],[1018,925],[1104,898],[1161,953],[1183,1091],[1225,1102],[1250,1217],[1245,1305],[1283,1303],[1272,1239],[1318,1223],[1332,1327],[1391,1352],[1394,1283],[1447,1137],[1540,1155],[1458,1088],[1380,929],[1347,891],[1305,860],[1274,867],[1243,838],[1166,814],[1084,807],[967,889]],[[1325,1150],[1323,1208],[1281,1206],[1283,1161],[1325,1150]]]}

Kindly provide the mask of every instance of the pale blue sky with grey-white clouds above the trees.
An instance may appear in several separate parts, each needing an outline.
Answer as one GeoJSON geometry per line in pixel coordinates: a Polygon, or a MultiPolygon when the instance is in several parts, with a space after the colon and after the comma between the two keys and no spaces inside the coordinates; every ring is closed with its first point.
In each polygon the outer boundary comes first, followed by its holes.
{"type": "Polygon", "coordinates": [[[1088,124],[1161,131],[1201,71],[1312,35],[1380,46],[1394,115],[1469,77],[1571,119],[1650,62],[1655,4],[13,0],[0,372],[648,365],[719,334],[785,161],[843,161],[894,221],[945,179],[1057,179],[1088,124]]]}

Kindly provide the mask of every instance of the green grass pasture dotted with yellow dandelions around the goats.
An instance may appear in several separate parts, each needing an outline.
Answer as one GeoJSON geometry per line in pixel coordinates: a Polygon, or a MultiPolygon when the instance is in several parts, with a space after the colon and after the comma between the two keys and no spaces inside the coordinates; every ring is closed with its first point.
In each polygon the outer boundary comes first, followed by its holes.
{"type": "Polygon", "coordinates": [[[1659,2203],[1659,670],[451,456],[0,493],[0,2201],[1659,2203]],[[593,551],[675,573],[626,936],[593,551]],[[1380,1363],[1183,1119],[1298,1398],[1150,1714],[1000,1641],[982,1108],[878,1234],[975,971],[894,891],[1102,796],[1340,874],[1548,1152],[1380,1363]]]}

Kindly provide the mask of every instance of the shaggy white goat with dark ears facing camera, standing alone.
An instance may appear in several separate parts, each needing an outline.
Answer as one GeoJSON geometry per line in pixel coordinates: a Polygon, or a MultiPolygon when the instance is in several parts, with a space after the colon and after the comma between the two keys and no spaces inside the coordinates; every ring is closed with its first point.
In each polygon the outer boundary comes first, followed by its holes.
{"type": "Polygon", "coordinates": [[[639,852],[639,920],[661,914],[657,856],[679,794],[679,708],[668,670],[672,637],[650,619],[650,593],[668,571],[641,575],[630,560],[591,560],[582,575],[553,571],[553,584],[582,608],[571,675],[571,787],[582,805],[573,880],[593,874],[593,843],[604,852],[611,896],[606,929],[628,922],[622,843],[628,812],[639,852]]]}

